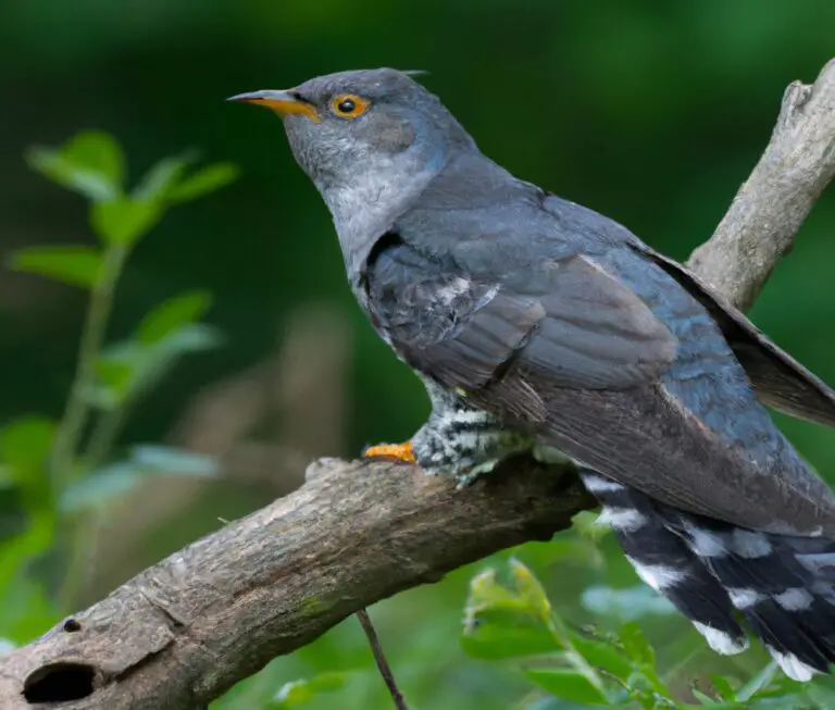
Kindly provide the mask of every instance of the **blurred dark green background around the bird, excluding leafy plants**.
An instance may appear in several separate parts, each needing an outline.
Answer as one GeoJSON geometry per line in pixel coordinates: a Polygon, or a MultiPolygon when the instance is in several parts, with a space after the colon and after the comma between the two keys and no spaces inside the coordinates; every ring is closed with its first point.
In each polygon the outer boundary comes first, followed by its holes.
{"type": "MultiPolygon", "coordinates": [[[[833,28],[835,3],[823,0],[3,0],[0,256],[95,241],[85,201],[27,167],[33,144],[107,130],[124,145],[132,180],[187,148],[241,170],[229,187],[172,211],[141,242],[109,331],[123,337],[184,289],[213,295],[208,322],[222,347],[178,363],[133,409],[119,446],[183,447],[214,457],[222,473],[154,476],[110,500],[78,603],[219,519],[291,490],[312,458],[400,440],[427,412],[420,383],[353,303],[329,217],[278,121],[225,97],[345,68],[427,70],[422,82],[499,163],[684,260],[756,163],[786,85],[812,80],[835,55],[833,28]]],[[[833,229],[831,190],[752,311],[830,383],[833,229]]],[[[0,271],[0,425],[61,414],[85,299],[80,289],[0,271]]],[[[780,422],[835,479],[835,434],[780,422]]],[[[633,589],[637,581],[608,538],[564,534],[516,553],[572,623],[637,615],[683,687],[715,670],[745,676],[764,660],[757,651],[711,656],[685,622],[633,589]]],[[[522,707],[513,703],[529,692],[512,669],[460,648],[468,581],[482,566],[373,610],[415,707],[522,707]]],[[[35,570],[49,589],[60,584],[61,557],[35,570]]],[[[53,621],[34,614],[27,628],[34,636],[53,621]]],[[[276,661],[226,707],[259,707],[253,698],[332,670],[356,673],[310,708],[389,707],[352,619],[276,661]]]]}

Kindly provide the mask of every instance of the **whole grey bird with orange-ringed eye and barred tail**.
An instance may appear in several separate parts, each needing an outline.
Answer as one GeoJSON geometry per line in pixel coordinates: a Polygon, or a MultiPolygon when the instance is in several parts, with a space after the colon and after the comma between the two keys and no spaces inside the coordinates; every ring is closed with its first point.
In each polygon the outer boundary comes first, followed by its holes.
{"type": "Polygon", "coordinates": [[[768,408],[835,393],[682,264],[485,155],[415,76],[338,72],[271,109],[333,217],[350,287],[432,410],[366,457],[461,486],[570,461],[637,575],[723,655],[835,662],[835,497],[768,408]],[[746,627],[749,633],[746,633],[746,627]]]}

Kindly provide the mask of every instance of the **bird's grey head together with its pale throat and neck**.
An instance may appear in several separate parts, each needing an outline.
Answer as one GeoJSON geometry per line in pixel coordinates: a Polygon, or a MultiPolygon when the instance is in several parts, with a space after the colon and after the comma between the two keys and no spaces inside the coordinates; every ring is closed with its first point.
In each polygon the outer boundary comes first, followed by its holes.
{"type": "Polygon", "coordinates": [[[481,155],[437,97],[390,68],[328,74],[229,100],[283,119],[296,161],[331,211],[352,281],[375,240],[457,157],[481,155]]]}

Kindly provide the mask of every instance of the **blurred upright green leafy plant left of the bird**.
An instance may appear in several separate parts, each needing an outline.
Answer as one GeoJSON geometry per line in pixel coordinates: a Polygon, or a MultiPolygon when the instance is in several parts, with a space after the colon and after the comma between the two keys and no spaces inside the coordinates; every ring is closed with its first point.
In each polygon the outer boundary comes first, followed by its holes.
{"type": "Polygon", "coordinates": [[[219,473],[215,461],[188,451],[141,445],[125,454],[116,448],[137,398],[185,356],[221,344],[201,322],[211,297],[195,290],[159,303],[126,340],[108,344],[105,333],[116,284],[139,240],[172,207],[237,177],[228,163],[187,174],[190,158],[165,159],[128,192],[124,151],[98,130],[79,133],[59,148],[33,148],[26,157],[34,170],[89,200],[99,246],[26,247],[7,259],[15,271],[89,291],[63,416],[25,415],[0,428],[0,638],[7,646],[30,640],[72,611],[89,564],[90,530],[138,482],[162,473],[219,473]],[[58,586],[38,572],[38,563],[55,551],[70,559],[58,586]]]}

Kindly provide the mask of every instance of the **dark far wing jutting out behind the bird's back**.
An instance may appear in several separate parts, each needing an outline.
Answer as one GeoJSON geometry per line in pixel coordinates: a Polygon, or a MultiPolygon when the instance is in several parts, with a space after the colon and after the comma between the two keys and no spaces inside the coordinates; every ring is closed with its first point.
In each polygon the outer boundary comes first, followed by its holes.
{"type": "Polygon", "coordinates": [[[835,391],[831,387],[782,350],[685,266],[644,245],[639,250],[708,310],[764,403],[785,414],[835,427],[835,391]]]}

